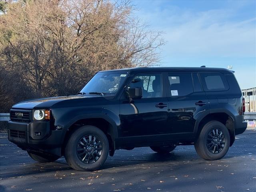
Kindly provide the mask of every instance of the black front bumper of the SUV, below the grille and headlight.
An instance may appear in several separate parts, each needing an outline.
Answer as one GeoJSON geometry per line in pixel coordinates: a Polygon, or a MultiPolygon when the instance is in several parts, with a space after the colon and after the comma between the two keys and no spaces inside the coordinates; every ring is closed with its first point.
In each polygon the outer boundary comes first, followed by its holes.
{"type": "Polygon", "coordinates": [[[50,130],[50,122],[8,122],[8,140],[22,150],[61,156],[61,136],[62,130],[50,130]]]}

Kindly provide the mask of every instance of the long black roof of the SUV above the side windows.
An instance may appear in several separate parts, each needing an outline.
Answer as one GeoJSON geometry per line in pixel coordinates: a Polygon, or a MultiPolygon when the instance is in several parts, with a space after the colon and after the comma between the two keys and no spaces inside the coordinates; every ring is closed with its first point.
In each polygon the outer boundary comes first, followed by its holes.
{"type": "MultiPolygon", "coordinates": [[[[210,67],[136,67],[136,68],[123,68],[123,69],[114,69],[108,71],[130,71],[132,72],[221,72],[224,74],[233,74],[233,71],[226,68],[210,68],[210,67]]],[[[100,71],[104,72],[104,71],[100,71]]]]}

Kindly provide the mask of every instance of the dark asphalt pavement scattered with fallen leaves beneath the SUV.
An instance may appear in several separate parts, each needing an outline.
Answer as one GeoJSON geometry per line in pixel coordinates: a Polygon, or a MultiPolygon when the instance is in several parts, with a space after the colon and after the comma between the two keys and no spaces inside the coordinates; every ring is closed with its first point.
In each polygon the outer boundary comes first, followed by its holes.
{"type": "Polygon", "coordinates": [[[116,150],[95,172],[70,168],[64,158],[38,163],[0,134],[0,192],[256,192],[256,131],[236,136],[221,160],[200,158],[194,146],[167,155],[150,148],[116,150]]]}

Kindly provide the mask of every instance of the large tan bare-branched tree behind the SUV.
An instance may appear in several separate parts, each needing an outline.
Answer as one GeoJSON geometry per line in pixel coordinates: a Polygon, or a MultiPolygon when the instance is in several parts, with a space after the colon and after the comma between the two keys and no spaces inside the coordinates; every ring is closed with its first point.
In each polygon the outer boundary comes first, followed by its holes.
{"type": "Polygon", "coordinates": [[[129,1],[18,0],[1,9],[0,67],[37,96],[74,94],[98,70],[156,65],[164,44],[129,1]]]}

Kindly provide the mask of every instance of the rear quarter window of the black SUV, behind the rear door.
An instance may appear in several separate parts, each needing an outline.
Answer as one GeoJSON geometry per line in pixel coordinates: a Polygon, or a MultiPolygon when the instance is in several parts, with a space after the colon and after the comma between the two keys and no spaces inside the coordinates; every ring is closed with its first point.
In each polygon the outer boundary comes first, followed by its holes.
{"type": "Polygon", "coordinates": [[[200,73],[205,91],[226,91],[229,89],[226,76],[220,73],[200,73]]]}

